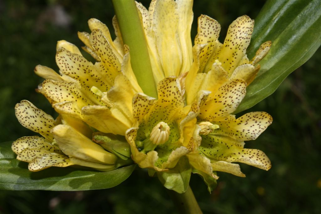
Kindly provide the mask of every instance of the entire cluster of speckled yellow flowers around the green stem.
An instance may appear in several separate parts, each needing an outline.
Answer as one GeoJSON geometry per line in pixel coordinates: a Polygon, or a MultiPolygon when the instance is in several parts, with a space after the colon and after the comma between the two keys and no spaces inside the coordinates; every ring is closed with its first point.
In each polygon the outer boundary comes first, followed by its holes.
{"type": "Polygon", "coordinates": [[[106,171],[134,161],[159,177],[184,165],[205,180],[217,179],[215,171],[245,176],[233,162],[268,170],[267,156],[245,149],[244,141],[255,140],[272,117],[251,112],[236,118],[232,113],[271,42],[263,43],[249,60],[253,20],[244,15],[233,21],[222,44],[220,24],[201,15],[192,46],[192,4],[153,0],[147,10],[136,3],[157,98],[144,94],[138,84],[115,17],[115,40],[97,19],[88,21],[90,34],[78,32],[94,64],[73,44],[59,41],[60,74],[46,66],[35,69],[46,79],[39,93],[59,116],[54,119],[26,100],[16,105],[19,122],[43,136],[14,141],[17,159],[29,162],[31,171],[70,165],[106,171]]]}

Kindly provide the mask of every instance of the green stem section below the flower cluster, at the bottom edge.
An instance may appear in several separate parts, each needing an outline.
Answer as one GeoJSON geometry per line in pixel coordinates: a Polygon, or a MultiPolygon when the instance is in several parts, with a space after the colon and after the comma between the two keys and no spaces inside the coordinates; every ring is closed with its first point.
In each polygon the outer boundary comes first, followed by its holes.
{"type": "Polygon", "coordinates": [[[188,185],[185,193],[179,194],[173,190],[168,191],[178,212],[181,214],[202,214],[202,210],[198,206],[191,187],[188,185]]]}

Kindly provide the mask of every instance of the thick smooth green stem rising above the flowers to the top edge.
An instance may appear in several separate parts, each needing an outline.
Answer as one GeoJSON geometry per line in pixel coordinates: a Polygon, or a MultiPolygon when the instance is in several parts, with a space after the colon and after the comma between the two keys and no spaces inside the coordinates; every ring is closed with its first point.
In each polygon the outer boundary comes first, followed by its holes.
{"type": "Polygon", "coordinates": [[[124,44],[130,49],[130,62],[143,92],[157,98],[146,39],[134,0],[112,0],[124,44]]]}

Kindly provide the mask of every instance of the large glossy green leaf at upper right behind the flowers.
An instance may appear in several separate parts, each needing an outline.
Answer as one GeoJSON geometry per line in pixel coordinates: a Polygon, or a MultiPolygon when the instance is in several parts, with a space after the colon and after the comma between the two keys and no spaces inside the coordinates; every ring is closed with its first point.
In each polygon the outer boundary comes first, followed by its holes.
{"type": "Polygon", "coordinates": [[[261,70],[247,87],[247,94],[234,113],[254,106],[271,95],[281,82],[304,64],[321,45],[320,0],[269,0],[257,16],[249,59],[258,47],[271,40],[261,70]]]}

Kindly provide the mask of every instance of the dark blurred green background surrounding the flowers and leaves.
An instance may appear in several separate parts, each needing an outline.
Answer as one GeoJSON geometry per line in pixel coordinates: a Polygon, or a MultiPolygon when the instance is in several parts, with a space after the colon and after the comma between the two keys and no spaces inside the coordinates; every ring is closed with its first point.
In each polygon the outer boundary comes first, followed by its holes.
{"type": "MultiPolygon", "coordinates": [[[[142,1],[148,6],[148,1],[142,1]]],[[[220,41],[238,16],[254,18],[263,0],[202,0],[194,3],[196,20],[206,14],[220,22],[220,41]]],[[[82,46],[77,31],[89,31],[87,20],[97,18],[112,30],[109,1],[0,0],[0,142],[34,135],[14,116],[14,105],[30,100],[56,116],[48,101],[35,92],[42,79],[33,73],[37,64],[55,69],[56,42],[65,39],[82,46]]],[[[86,55],[88,56],[88,55],[86,55]]],[[[273,116],[269,126],[247,148],[263,150],[271,159],[268,172],[241,165],[246,178],[218,173],[218,187],[209,194],[197,175],[191,187],[206,213],[321,213],[320,92],[321,50],[294,71],[270,97],[248,111],[273,116]]],[[[0,213],[177,213],[157,178],[136,170],[129,179],[107,190],[79,192],[1,191],[0,213]]]]}

